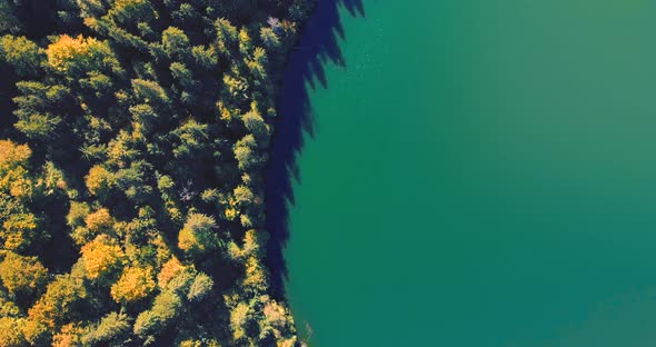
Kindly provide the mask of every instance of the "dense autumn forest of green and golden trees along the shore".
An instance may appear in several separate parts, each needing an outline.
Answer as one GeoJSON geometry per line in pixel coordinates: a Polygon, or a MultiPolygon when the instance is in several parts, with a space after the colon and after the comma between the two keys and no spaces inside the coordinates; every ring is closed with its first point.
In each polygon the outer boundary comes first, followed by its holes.
{"type": "Polygon", "coordinates": [[[309,0],[0,0],[0,346],[295,346],[262,168],[309,0]]]}

